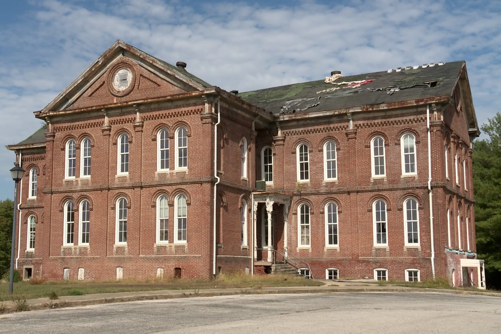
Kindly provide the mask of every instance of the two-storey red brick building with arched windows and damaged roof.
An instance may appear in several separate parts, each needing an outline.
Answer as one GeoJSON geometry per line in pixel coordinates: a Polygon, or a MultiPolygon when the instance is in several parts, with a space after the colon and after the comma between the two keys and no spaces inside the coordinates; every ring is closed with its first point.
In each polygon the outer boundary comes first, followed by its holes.
{"type": "Polygon", "coordinates": [[[483,287],[464,62],[226,92],[117,41],[7,148],[25,278],[270,272],[483,287]]]}

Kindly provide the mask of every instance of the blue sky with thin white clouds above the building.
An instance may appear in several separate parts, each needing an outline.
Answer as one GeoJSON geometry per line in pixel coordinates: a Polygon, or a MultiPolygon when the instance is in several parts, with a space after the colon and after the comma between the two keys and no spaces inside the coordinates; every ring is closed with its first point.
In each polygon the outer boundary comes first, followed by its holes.
{"type": "MultiPolygon", "coordinates": [[[[18,0],[0,11],[2,145],[35,132],[33,112],[117,39],[241,92],[465,60],[479,124],[501,105],[499,1],[18,0]]],[[[14,159],[0,150],[0,199],[13,197],[14,159]]]]}

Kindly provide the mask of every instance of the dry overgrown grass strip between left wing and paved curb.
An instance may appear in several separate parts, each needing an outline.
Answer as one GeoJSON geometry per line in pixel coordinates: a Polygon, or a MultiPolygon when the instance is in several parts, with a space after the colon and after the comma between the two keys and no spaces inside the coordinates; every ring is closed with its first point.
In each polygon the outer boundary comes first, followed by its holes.
{"type": "MultiPolygon", "coordinates": [[[[120,281],[46,281],[30,284],[22,281],[14,284],[14,295],[23,299],[52,296],[83,295],[91,293],[133,292],[152,290],[198,290],[210,288],[247,288],[267,286],[320,286],[322,282],[291,275],[220,275],[212,280],[204,279],[147,279],[145,281],[124,279],[120,281]]],[[[0,300],[12,300],[8,283],[0,283],[0,300]]]]}

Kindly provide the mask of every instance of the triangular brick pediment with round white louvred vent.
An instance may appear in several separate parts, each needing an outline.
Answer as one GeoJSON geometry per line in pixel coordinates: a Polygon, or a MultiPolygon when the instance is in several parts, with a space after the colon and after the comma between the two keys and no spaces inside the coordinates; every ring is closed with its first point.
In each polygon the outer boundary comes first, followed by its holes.
{"type": "Polygon", "coordinates": [[[203,91],[207,83],[117,41],[40,114],[203,91]]]}

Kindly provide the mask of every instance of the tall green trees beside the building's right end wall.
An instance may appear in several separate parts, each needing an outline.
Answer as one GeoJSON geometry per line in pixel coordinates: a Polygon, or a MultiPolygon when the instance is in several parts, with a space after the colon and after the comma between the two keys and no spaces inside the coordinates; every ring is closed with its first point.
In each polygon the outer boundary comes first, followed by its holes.
{"type": "Polygon", "coordinates": [[[487,284],[501,288],[501,114],[481,126],[488,136],[473,142],[477,256],[487,284]]]}

